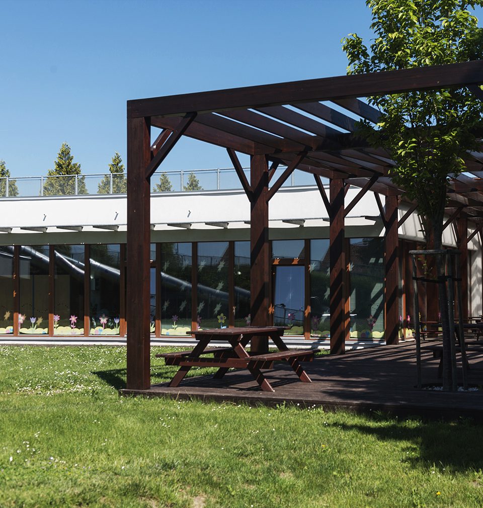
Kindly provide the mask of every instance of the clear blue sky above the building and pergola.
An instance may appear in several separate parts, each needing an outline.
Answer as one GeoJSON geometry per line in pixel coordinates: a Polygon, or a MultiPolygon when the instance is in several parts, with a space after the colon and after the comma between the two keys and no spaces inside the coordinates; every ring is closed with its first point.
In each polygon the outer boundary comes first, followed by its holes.
{"type": "MultiPolygon", "coordinates": [[[[46,174],[62,142],[85,174],[126,160],[126,101],[345,74],[364,0],[0,1],[0,159],[46,174]]],[[[164,170],[229,167],[182,140],[164,170]]]]}

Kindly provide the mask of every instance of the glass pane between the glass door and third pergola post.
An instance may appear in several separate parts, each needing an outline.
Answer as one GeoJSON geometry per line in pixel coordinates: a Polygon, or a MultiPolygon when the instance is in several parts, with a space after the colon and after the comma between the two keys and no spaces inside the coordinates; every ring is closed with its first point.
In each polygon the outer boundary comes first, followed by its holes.
{"type": "Polygon", "coordinates": [[[310,334],[330,335],[329,240],[310,241],[310,334]]]}

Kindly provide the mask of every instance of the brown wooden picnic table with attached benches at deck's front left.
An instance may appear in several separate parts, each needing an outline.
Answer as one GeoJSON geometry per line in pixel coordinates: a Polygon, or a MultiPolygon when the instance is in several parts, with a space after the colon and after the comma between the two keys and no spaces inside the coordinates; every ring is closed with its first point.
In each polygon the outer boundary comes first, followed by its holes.
{"type": "Polygon", "coordinates": [[[166,365],[179,366],[178,371],[171,379],[170,387],[177,387],[191,367],[218,367],[214,375],[216,379],[222,378],[230,368],[248,369],[263,391],[275,392],[262,374],[261,369],[273,368],[274,362],[278,360],[286,361],[295,371],[301,382],[312,383],[307,372],[305,372],[299,362],[311,362],[314,359],[314,352],[312,350],[289,350],[282,340],[284,330],[284,327],[277,326],[196,330],[191,332],[198,341],[193,350],[162,353],[156,356],[164,358],[166,365]],[[250,356],[246,346],[251,338],[260,336],[270,338],[279,351],[250,356]],[[208,347],[212,340],[227,341],[230,346],[208,347]],[[212,354],[213,356],[202,356],[206,354],[212,354]]]}

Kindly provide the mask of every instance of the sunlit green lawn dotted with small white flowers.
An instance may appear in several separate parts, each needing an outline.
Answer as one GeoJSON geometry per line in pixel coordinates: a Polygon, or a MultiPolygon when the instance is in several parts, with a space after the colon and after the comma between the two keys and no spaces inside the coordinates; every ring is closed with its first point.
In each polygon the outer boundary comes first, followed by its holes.
{"type": "Polygon", "coordinates": [[[0,507],[483,506],[480,425],[119,398],[125,354],[0,347],[0,507]]]}

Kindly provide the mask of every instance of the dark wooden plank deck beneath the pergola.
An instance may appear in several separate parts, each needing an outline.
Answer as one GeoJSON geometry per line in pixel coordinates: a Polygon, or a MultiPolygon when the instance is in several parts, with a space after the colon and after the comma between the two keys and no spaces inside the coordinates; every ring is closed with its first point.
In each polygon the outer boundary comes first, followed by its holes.
{"type": "MultiPolygon", "coordinates": [[[[305,363],[313,383],[300,383],[289,366],[276,364],[264,371],[275,393],[261,392],[245,370],[228,372],[223,379],[211,376],[185,378],[177,388],[167,383],[149,390],[121,390],[122,395],[149,397],[199,398],[216,401],[245,401],[250,404],[277,405],[282,402],[300,406],[320,406],[327,410],[382,410],[399,416],[458,418],[483,421],[483,355],[469,353],[469,383],[476,392],[443,393],[417,390],[414,342],[394,346],[376,346],[348,352],[342,356],[317,357],[305,363]]],[[[159,360],[160,368],[164,362],[159,360]]],[[[422,356],[424,384],[436,385],[439,360],[430,352],[422,356]]],[[[461,374],[461,365],[458,365],[461,374]]]]}

